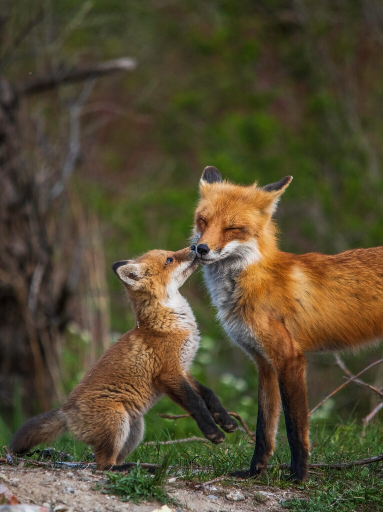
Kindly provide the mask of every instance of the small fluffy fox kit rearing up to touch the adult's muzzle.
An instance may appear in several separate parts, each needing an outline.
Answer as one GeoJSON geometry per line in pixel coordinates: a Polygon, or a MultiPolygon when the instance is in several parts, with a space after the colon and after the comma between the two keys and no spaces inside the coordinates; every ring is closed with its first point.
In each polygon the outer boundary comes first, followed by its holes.
{"type": "Polygon", "coordinates": [[[188,372],[199,332],[179,288],[198,266],[195,247],[150,251],[113,270],[123,282],[136,314],[124,334],[87,372],[60,407],[28,420],[10,448],[23,454],[67,430],[94,446],[97,468],[122,464],[141,442],[143,415],[165,393],[197,422],[204,436],[221,443],[237,429],[216,395],[188,372]]]}

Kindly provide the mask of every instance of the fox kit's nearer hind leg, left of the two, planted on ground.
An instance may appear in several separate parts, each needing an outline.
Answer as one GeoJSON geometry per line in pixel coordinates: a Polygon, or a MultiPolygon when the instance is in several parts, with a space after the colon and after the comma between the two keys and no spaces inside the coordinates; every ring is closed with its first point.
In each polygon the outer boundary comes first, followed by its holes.
{"type": "Polygon", "coordinates": [[[117,410],[100,411],[105,420],[99,424],[94,440],[94,455],[98,470],[116,465],[117,458],[130,434],[130,418],[123,406],[117,410]]]}

